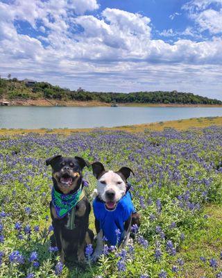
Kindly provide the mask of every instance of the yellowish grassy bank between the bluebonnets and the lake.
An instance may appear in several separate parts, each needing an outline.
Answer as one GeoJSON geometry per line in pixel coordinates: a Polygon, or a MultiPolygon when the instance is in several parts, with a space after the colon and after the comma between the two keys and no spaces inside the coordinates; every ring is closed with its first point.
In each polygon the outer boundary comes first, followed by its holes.
{"type": "MultiPolygon", "coordinates": [[[[112,128],[100,128],[103,131],[128,131],[128,132],[144,132],[144,131],[162,131],[166,128],[172,128],[177,130],[185,130],[190,128],[200,128],[206,126],[220,126],[222,125],[222,117],[199,117],[186,120],[176,120],[167,122],[154,122],[151,124],[135,124],[129,126],[117,126],[112,128]]],[[[61,133],[71,134],[76,132],[89,132],[94,129],[0,129],[0,135],[12,135],[12,134],[25,134],[25,133],[61,133]]]]}

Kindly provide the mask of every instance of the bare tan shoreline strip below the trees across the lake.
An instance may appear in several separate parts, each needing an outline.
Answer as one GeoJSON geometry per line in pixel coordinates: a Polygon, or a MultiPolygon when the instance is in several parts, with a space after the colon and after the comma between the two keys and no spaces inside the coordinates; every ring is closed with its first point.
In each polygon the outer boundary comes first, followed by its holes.
{"type": "MultiPolygon", "coordinates": [[[[68,107],[96,107],[104,106],[110,107],[110,103],[101,101],[65,101],[58,99],[4,99],[8,101],[10,106],[68,106],[68,107]]],[[[133,107],[222,107],[222,104],[139,104],[133,103],[119,103],[117,106],[133,106],[133,107]]]]}

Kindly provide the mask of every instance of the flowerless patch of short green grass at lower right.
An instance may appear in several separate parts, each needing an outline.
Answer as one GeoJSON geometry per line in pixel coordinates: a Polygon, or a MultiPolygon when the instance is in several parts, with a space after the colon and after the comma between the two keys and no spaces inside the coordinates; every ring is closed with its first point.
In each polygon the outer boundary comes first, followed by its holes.
{"type": "Polygon", "coordinates": [[[218,271],[210,272],[209,260],[212,258],[216,259],[219,267],[222,266],[222,205],[210,204],[205,207],[204,213],[207,219],[204,220],[203,227],[187,236],[178,254],[185,259],[185,277],[216,277],[218,271]],[[205,263],[200,260],[200,256],[205,257],[205,263]]]}

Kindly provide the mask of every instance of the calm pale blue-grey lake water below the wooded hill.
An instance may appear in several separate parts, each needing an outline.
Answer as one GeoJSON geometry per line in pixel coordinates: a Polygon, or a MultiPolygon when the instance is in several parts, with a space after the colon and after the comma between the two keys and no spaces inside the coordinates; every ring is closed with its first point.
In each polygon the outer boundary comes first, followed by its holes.
{"type": "Polygon", "coordinates": [[[222,116],[222,108],[0,106],[0,128],[75,129],[215,116],[222,116]]]}

